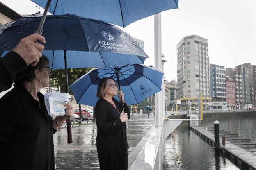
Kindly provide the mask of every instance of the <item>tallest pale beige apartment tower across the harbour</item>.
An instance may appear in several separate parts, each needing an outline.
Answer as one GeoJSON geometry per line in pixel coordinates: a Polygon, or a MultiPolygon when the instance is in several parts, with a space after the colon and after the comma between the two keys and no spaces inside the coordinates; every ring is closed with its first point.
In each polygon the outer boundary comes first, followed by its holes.
{"type": "Polygon", "coordinates": [[[208,40],[197,35],[186,36],[177,45],[178,99],[182,109],[198,108],[198,95],[203,93],[203,109],[209,108],[210,74],[208,40]]]}

